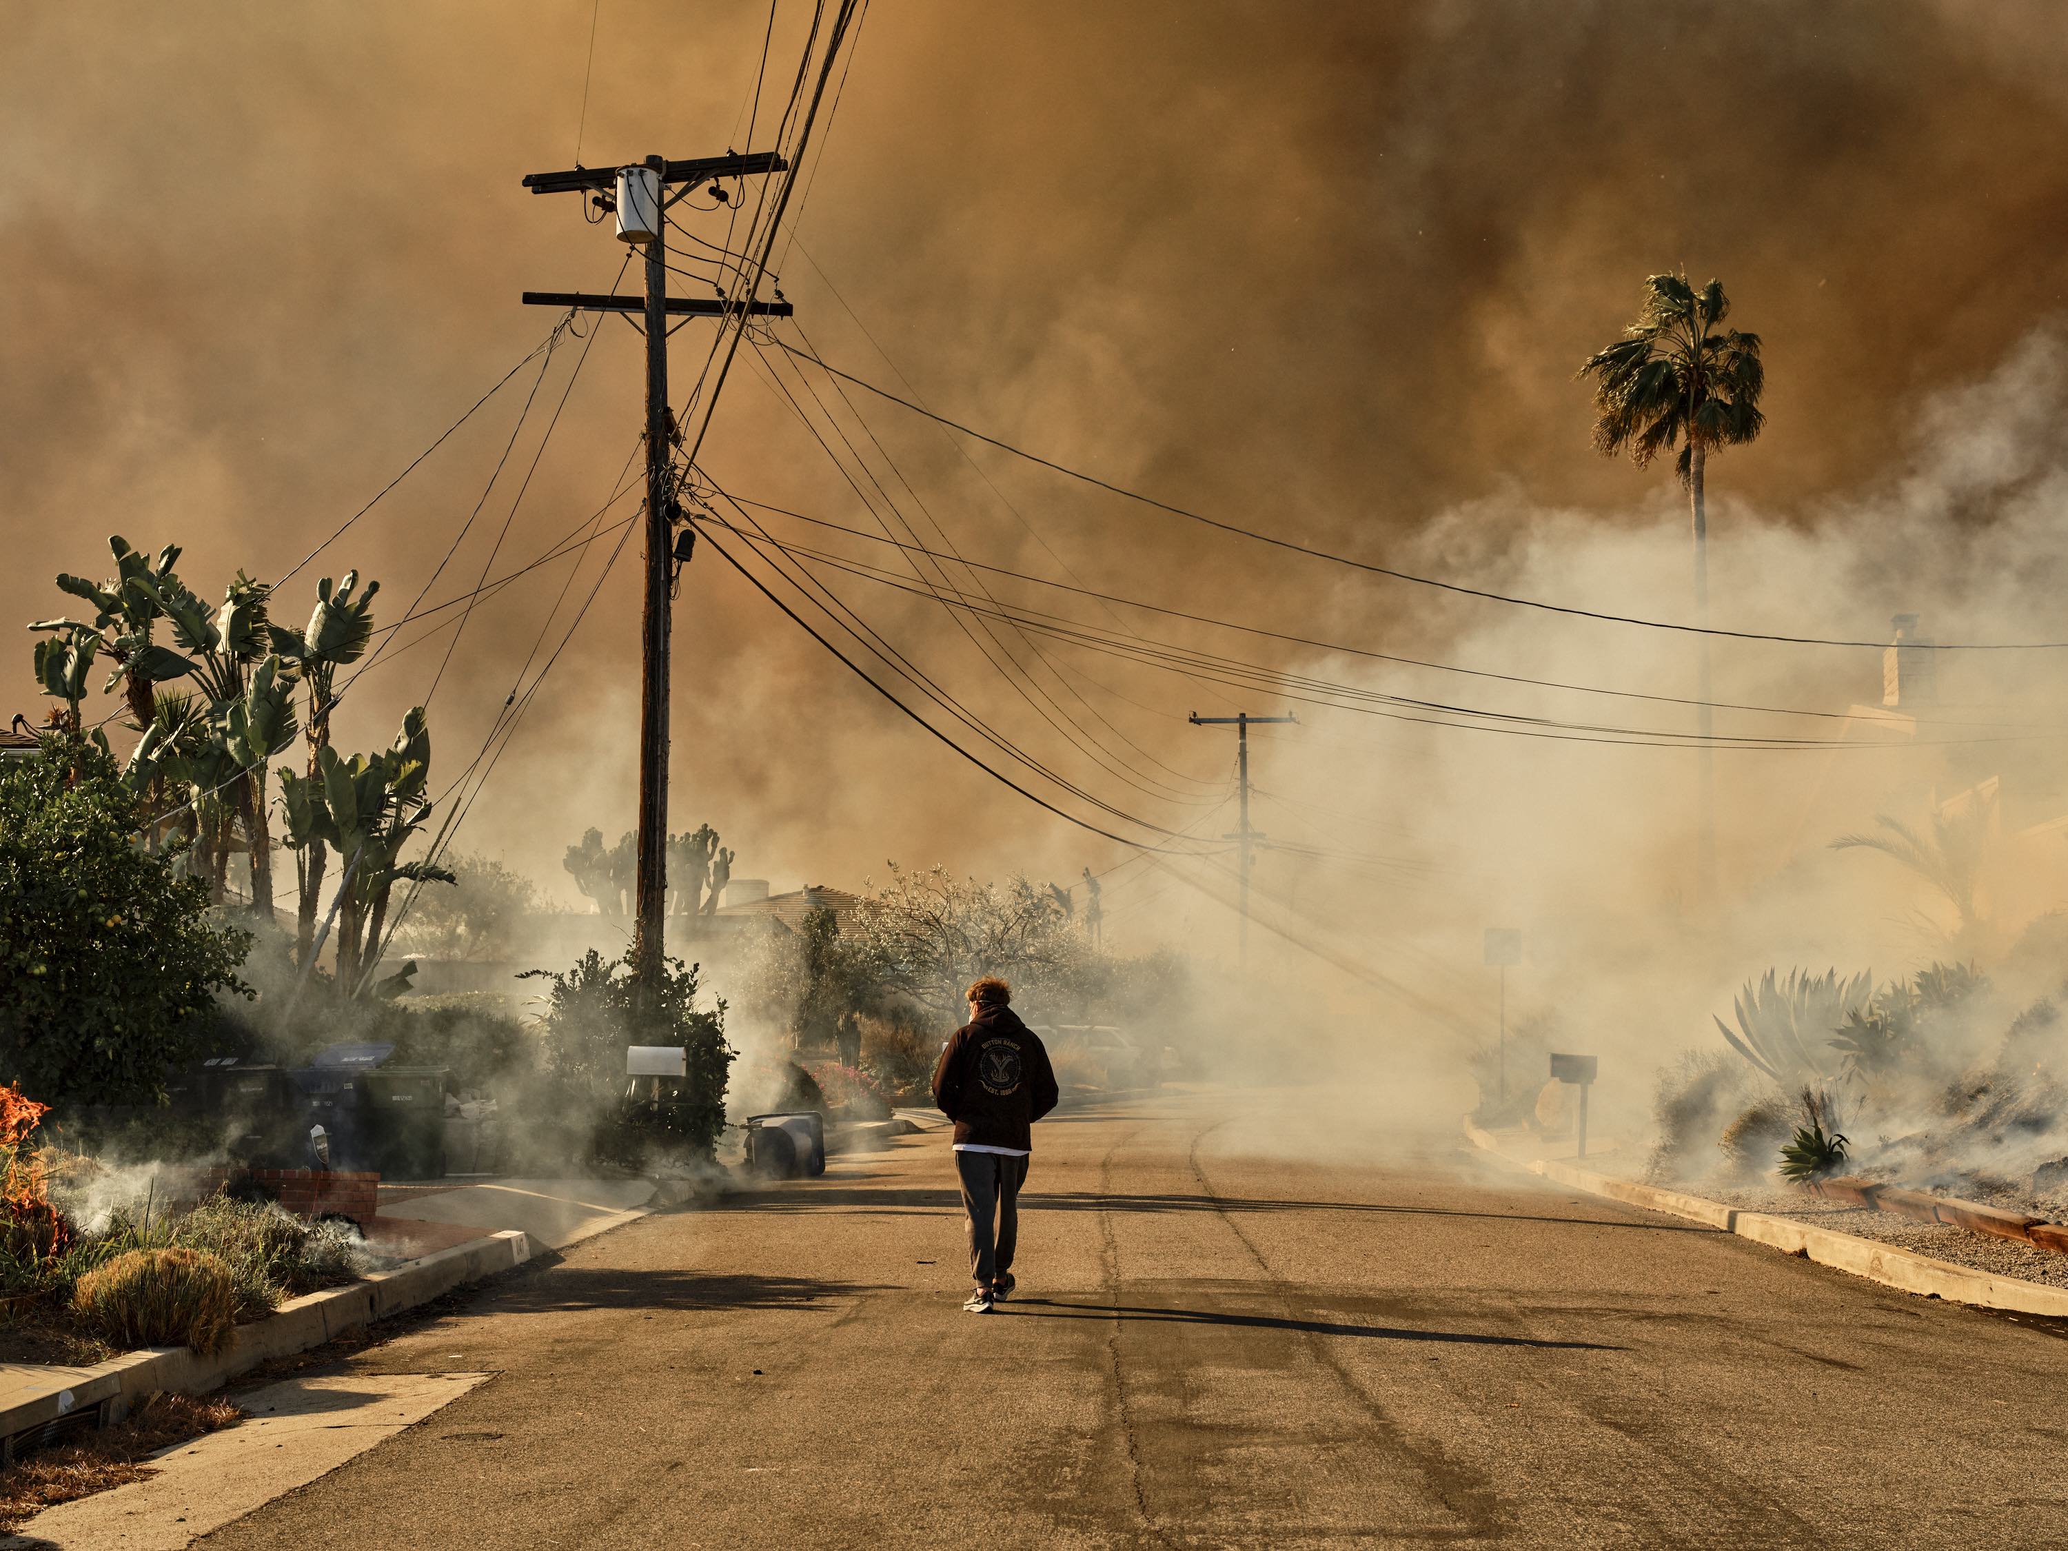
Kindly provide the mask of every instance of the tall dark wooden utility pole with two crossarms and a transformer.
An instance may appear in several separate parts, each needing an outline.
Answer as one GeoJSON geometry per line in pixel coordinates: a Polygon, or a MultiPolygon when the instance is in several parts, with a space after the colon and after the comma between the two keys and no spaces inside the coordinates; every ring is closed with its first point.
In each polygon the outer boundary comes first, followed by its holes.
{"type": "Polygon", "coordinates": [[[759,302],[749,294],[691,300],[668,296],[666,209],[682,194],[720,178],[784,172],[769,151],[753,155],[668,161],[647,157],[625,168],[534,172],[523,186],[534,194],[583,192],[598,209],[618,215],[618,236],[645,248],[645,296],[589,296],[583,292],[525,292],[525,306],[571,306],[591,312],[641,312],[645,333],[645,608],[639,627],[639,875],[633,885],[637,933],[633,964],[639,982],[660,982],[668,931],[668,635],[674,527],[682,515],[674,498],[674,438],[668,414],[668,316],[722,316],[742,327],[747,316],[790,316],[788,302],[759,302]],[[676,186],[674,194],[666,190],[676,186]],[[614,190],[614,192],[604,192],[614,190]]]}

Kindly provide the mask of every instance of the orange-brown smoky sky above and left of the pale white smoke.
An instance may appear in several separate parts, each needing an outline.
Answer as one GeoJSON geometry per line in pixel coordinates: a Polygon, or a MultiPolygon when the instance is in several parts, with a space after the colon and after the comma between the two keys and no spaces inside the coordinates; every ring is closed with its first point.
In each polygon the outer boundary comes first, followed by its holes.
{"type": "MultiPolygon", "coordinates": [[[[763,120],[807,21],[776,6],[763,120]]],[[[283,575],[546,337],[554,316],[521,290],[612,283],[610,227],[519,178],[571,165],[577,126],[591,165],[744,147],[765,27],[759,4],[602,0],[583,110],[577,0],[0,2],[0,618],[62,612],[52,575],[97,577],[116,531],[184,544],[205,596],[240,567],[283,575]]],[[[1173,503],[1474,581],[1514,560],[1537,507],[1615,529],[1679,498],[1663,469],[1590,451],[1572,381],[1652,271],[1721,277],[1733,323],[1766,339],[1770,426],[1712,465],[1721,496],[1814,534],[1886,478],[1936,391],[1985,376],[2064,304],[2064,81],[2051,4],[883,2],[776,258],[811,345],[869,381],[902,376],[945,414],[1173,503]],[[1439,521],[1460,509],[1474,521],[1439,521]]],[[[685,221],[722,242],[728,213],[685,221]]],[[[676,335],[678,383],[707,341],[703,323],[676,335]]],[[[734,494],[873,527],[771,387],[780,372],[802,397],[792,370],[742,354],[703,465],[734,494]]],[[[622,323],[565,341],[428,602],[474,585],[492,546],[498,575],[594,513],[633,453],[641,381],[622,323]]],[[[296,575],[277,616],[298,622],[314,577],[358,567],[393,620],[529,387],[527,370],[296,575]]],[[[885,486],[972,558],[1373,649],[1443,651],[1481,627],[972,447],[993,490],[937,428],[856,405],[912,494],[879,459],[885,486]]],[[[434,786],[474,759],[527,653],[536,668],[560,645],[600,569],[581,558],[558,612],[575,556],[469,618],[432,699],[434,786]]],[[[581,829],[633,819],[637,562],[635,540],[461,838],[558,889],[581,829]]],[[[1588,602],[1690,608],[1621,585],[1601,577],[1588,602]]],[[[937,604],[840,589],[1094,796],[1233,825],[1210,811],[1230,740],[1183,718],[1241,695],[1069,660],[1067,689],[1034,668],[1048,705],[937,604]]],[[[1814,625],[1874,635],[1900,602],[1836,598],[1814,625]]],[[[385,742],[449,641],[370,672],[339,740],[385,742]]],[[[0,658],[0,711],[39,718],[29,645],[23,631],[0,658]]],[[[680,589],[674,730],[674,825],[713,823],[738,875],[778,889],[854,887],[883,858],[1069,879],[1125,854],[957,761],[709,552],[680,589]]],[[[1355,786],[1338,796],[1363,811],[1355,786]]]]}

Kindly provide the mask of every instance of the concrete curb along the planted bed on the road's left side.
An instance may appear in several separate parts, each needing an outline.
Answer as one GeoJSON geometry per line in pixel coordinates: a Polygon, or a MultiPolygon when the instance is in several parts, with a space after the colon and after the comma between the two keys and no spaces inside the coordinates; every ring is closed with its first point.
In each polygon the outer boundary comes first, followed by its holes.
{"type": "Polygon", "coordinates": [[[159,1390],[178,1394],[219,1390],[236,1375],[275,1357],[306,1352],[347,1330],[414,1309],[463,1282],[478,1282],[527,1259],[531,1259],[531,1243],[525,1235],[492,1233],[486,1239],[412,1259],[391,1272],[374,1272],[364,1282],[290,1299],[279,1307],[279,1313],[238,1326],[230,1346],[211,1357],[188,1346],[155,1346],[112,1357],[89,1369],[66,1369],[43,1392],[0,1408],[0,1439],[12,1446],[25,1433],[89,1410],[97,1412],[101,1421],[120,1421],[130,1402],[159,1390]]]}

